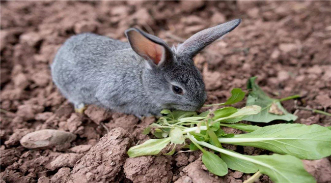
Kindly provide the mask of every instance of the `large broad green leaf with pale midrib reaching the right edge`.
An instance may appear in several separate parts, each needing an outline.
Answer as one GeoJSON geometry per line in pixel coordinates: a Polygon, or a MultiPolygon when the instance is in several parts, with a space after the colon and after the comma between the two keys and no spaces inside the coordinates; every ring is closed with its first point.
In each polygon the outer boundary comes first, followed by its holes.
{"type": "Polygon", "coordinates": [[[300,159],[317,160],[331,155],[331,131],[319,125],[271,125],[218,140],[220,143],[258,147],[300,159]]]}

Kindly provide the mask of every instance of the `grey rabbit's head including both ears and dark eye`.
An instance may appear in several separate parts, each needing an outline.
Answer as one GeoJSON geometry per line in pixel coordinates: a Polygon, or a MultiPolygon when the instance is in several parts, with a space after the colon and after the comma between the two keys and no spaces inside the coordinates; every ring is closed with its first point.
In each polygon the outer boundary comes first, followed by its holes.
{"type": "Polygon", "coordinates": [[[213,41],[232,31],[240,19],[204,29],[178,47],[136,28],[125,32],[131,48],[144,58],[143,91],[162,108],[195,111],[206,100],[202,75],[193,57],[213,41]]]}

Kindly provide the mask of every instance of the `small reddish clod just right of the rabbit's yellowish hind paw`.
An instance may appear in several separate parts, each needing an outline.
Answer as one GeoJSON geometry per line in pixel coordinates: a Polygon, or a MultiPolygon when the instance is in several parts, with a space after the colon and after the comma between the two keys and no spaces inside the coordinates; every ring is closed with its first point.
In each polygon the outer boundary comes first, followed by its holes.
{"type": "Polygon", "coordinates": [[[89,105],[84,113],[94,121],[97,125],[109,117],[112,116],[112,113],[107,112],[106,109],[98,107],[96,105],[89,105]]]}

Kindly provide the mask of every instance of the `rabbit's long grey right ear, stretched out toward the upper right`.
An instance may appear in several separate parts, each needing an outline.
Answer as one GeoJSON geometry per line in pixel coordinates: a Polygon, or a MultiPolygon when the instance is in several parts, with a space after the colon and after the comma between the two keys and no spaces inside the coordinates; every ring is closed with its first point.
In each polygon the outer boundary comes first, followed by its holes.
{"type": "Polygon", "coordinates": [[[232,20],[196,33],[177,47],[176,54],[185,57],[194,57],[206,46],[231,32],[240,24],[240,19],[232,20]]]}

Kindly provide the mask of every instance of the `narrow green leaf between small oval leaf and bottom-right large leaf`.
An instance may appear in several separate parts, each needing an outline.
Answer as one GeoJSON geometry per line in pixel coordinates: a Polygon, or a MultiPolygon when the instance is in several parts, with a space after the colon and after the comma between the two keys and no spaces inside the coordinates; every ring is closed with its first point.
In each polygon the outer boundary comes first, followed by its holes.
{"type": "Polygon", "coordinates": [[[220,154],[220,157],[228,165],[228,168],[232,170],[237,170],[244,173],[255,173],[259,170],[254,163],[249,161],[241,160],[223,153],[220,154]]]}

